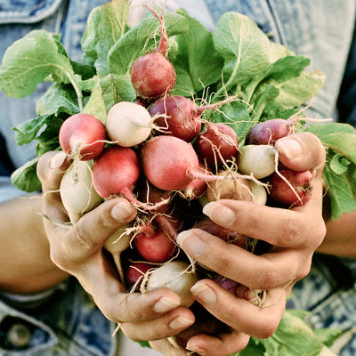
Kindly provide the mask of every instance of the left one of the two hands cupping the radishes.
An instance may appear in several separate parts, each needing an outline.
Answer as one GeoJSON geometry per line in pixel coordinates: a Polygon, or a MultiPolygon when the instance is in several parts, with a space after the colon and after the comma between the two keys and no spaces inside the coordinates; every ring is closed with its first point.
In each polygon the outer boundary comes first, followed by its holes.
{"type": "Polygon", "coordinates": [[[180,298],[172,290],[128,294],[102,253],[105,241],[136,216],[125,198],[108,199],[73,226],[69,224],[59,193],[61,177],[68,167],[63,152],[46,153],[37,166],[43,186],[44,229],[53,263],[75,276],[101,312],[121,324],[125,335],[133,340],[166,338],[190,326],[194,315],[179,306],[180,298]]]}

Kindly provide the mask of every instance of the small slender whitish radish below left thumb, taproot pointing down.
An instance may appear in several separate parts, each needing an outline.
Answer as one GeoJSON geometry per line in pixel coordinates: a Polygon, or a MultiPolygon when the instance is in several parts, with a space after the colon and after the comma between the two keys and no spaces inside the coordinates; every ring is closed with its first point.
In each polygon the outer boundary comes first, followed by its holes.
{"type": "Polygon", "coordinates": [[[114,232],[109,239],[106,240],[104,247],[109,251],[114,259],[114,262],[117,266],[117,272],[119,278],[124,282],[124,271],[121,265],[121,253],[125,251],[126,248],[130,247],[130,241],[132,239],[132,234],[127,233],[129,225],[123,226],[114,232]]]}

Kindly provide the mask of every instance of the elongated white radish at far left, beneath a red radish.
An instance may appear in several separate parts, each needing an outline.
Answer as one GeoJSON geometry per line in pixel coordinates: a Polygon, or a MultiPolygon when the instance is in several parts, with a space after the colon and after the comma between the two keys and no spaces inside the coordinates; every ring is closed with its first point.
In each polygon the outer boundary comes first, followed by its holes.
{"type": "Polygon", "coordinates": [[[61,178],[61,201],[72,224],[101,204],[102,199],[93,187],[92,168],[93,160],[76,160],[61,178]]]}

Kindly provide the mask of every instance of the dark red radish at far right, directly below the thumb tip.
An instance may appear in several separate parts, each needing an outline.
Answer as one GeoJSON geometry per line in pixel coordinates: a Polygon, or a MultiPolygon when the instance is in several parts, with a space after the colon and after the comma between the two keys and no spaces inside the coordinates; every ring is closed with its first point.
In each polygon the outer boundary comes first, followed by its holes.
{"type": "Polygon", "coordinates": [[[306,204],[312,194],[312,172],[296,172],[292,169],[283,168],[279,170],[279,174],[274,173],[271,177],[271,198],[283,206],[302,206],[306,204]]]}

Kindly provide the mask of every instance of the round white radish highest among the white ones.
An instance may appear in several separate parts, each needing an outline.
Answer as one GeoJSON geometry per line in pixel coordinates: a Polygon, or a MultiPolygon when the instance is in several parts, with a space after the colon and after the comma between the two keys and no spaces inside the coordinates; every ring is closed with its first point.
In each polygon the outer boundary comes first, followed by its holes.
{"type": "Polygon", "coordinates": [[[141,105],[120,101],[109,109],[105,126],[113,142],[119,146],[132,147],[150,136],[153,119],[141,105]]]}

